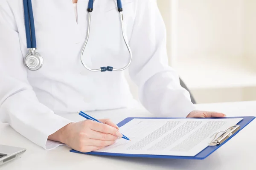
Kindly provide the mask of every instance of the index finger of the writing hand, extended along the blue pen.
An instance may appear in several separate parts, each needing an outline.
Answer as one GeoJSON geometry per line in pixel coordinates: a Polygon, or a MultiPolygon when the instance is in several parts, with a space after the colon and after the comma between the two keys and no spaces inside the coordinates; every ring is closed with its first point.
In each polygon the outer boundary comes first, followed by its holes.
{"type": "Polygon", "coordinates": [[[122,134],[116,128],[109,126],[107,124],[99,123],[99,122],[90,122],[91,125],[89,126],[91,130],[102,132],[102,133],[109,133],[114,136],[122,137],[122,134]]]}

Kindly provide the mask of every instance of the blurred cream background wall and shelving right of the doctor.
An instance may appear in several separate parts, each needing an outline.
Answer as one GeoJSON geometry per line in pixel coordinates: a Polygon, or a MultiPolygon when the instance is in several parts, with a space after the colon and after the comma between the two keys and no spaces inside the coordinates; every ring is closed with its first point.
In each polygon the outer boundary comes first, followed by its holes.
{"type": "Polygon", "coordinates": [[[157,0],[169,64],[197,103],[256,100],[256,0],[157,0]]]}

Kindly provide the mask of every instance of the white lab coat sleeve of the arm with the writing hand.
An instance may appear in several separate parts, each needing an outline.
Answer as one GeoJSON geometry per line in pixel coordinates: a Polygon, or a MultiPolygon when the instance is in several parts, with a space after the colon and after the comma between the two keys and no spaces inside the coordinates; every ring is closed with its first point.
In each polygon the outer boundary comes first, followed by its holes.
{"type": "Polygon", "coordinates": [[[47,150],[62,145],[48,136],[70,123],[42,105],[29,85],[15,18],[6,1],[0,1],[0,122],[47,150]]]}

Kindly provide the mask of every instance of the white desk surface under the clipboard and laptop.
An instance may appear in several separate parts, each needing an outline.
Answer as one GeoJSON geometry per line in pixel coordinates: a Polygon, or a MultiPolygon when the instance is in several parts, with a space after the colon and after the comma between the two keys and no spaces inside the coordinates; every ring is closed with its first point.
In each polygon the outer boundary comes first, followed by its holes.
{"type": "MultiPolygon", "coordinates": [[[[221,111],[227,116],[256,116],[255,102],[198,105],[201,110],[221,111]]],[[[120,122],[128,116],[152,116],[140,109],[96,112],[94,116],[109,117],[120,122]]],[[[81,116],[63,115],[75,121],[81,116]]],[[[36,135],[36,134],[35,134],[36,135]]],[[[15,132],[9,125],[0,124],[0,144],[25,147],[19,158],[0,167],[1,170],[255,170],[256,169],[256,121],[245,127],[229,142],[205,160],[137,159],[100,157],[69,152],[61,146],[46,151],[15,132]]]]}

